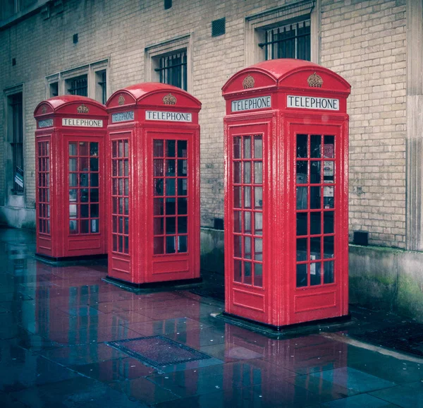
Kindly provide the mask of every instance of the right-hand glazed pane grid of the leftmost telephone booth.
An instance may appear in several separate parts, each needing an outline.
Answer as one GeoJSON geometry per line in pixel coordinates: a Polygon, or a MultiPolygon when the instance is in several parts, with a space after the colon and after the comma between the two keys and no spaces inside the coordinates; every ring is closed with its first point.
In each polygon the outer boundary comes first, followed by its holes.
{"type": "Polygon", "coordinates": [[[99,143],[69,142],[69,234],[99,233],[99,143]]]}

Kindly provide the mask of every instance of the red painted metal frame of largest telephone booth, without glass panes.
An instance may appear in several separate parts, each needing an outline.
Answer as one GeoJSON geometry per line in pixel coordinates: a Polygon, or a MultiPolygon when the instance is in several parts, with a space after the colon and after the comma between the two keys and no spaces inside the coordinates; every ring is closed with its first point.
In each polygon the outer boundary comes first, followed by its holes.
{"type": "MultiPolygon", "coordinates": [[[[348,315],[348,115],[346,100],[350,94],[350,85],[336,73],[308,61],[295,59],[276,59],[264,61],[236,73],[223,86],[223,97],[226,100],[226,116],[224,118],[224,157],[225,157],[225,290],[226,313],[240,316],[272,326],[291,325],[311,320],[334,318],[348,315]],[[316,73],[323,80],[321,88],[310,87],[307,78],[316,73]],[[252,77],[252,78],[248,78],[252,77]],[[247,79],[246,79],[247,78],[247,79]],[[245,89],[245,84],[252,88],[245,89]],[[338,110],[300,109],[288,107],[288,95],[326,97],[339,100],[338,110]],[[233,101],[253,97],[271,97],[271,107],[232,112],[233,101]],[[319,191],[319,203],[324,203],[324,147],[320,145],[320,158],[310,157],[296,159],[297,135],[335,137],[334,201],[335,222],[333,233],[324,234],[324,213],[330,220],[331,209],[310,210],[310,179],[308,188],[308,210],[300,210],[300,215],[307,220],[307,260],[297,261],[296,231],[297,228],[297,161],[304,161],[308,166],[308,177],[311,167],[319,168],[319,183],[313,181],[314,192],[319,191]],[[234,197],[237,195],[234,185],[234,152],[233,140],[238,136],[262,135],[263,138],[263,192],[262,192],[262,287],[254,284],[237,282],[238,277],[238,221],[234,216],[234,197]],[[319,162],[319,163],[317,163],[319,162]],[[308,214],[313,213],[313,215],[308,214]],[[317,214],[319,213],[319,215],[317,214]],[[317,230],[311,234],[310,217],[320,220],[317,230]],[[235,228],[235,230],[234,230],[235,228]],[[312,235],[312,236],[310,236],[312,235]],[[319,259],[328,256],[329,243],[335,236],[334,258],[319,259]],[[315,246],[314,243],[319,243],[315,246]],[[310,252],[310,246],[319,248],[310,252]],[[235,248],[235,244],[237,248],[235,248]],[[313,258],[314,257],[314,258],[313,258]],[[334,282],[330,282],[331,260],[334,263],[334,282]],[[306,265],[307,286],[297,283],[297,264],[306,265]],[[324,277],[324,265],[327,263],[327,276],[324,277]],[[321,269],[321,277],[319,276],[321,269]],[[235,274],[235,275],[234,275],[235,274]],[[311,277],[313,275],[313,277],[311,277]],[[317,280],[320,279],[320,280],[317,280]],[[313,281],[312,281],[313,280],[313,281]],[[318,283],[317,283],[318,282],[318,283]]],[[[301,136],[299,136],[300,140],[301,136]]],[[[317,140],[313,136],[313,140],[317,140]]],[[[307,139],[307,140],[309,140],[307,139]]],[[[310,150],[309,150],[310,151],[310,150]]],[[[331,161],[330,159],[327,161],[331,161]]],[[[326,164],[326,163],[325,163],[326,164]]],[[[299,164],[300,165],[300,164],[299,164]]],[[[329,166],[330,167],[330,166],[329,166]]],[[[242,172],[242,176],[244,173],[242,172]]],[[[299,174],[300,176],[300,174],[299,174]]],[[[302,181],[304,182],[304,181],[302,181]]],[[[326,187],[330,187],[326,186],[326,187]]],[[[302,190],[304,191],[304,190],[302,190]]],[[[298,193],[300,194],[300,193],[298,193]]],[[[254,195],[254,193],[252,193],[254,195]]],[[[253,198],[252,198],[253,199],[253,198]]],[[[235,215],[236,212],[235,212],[235,215]]],[[[326,220],[326,219],[325,219],[326,220]]],[[[328,221],[328,225],[329,221],[328,221]]],[[[254,224],[252,224],[254,228],[254,224]]],[[[252,251],[254,252],[254,250],[252,251]]],[[[241,257],[245,255],[245,245],[241,247],[241,257]]],[[[242,260],[250,262],[250,254],[242,260]]],[[[245,267],[244,267],[245,268],[245,267]]],[[[250,273],[250,266],[247,268],[250,273]]],[[[245,273],[245,269],[244,269],[245,273]]],[[[251,280],[254,282],[254,271],[251,280]]],[[[243,275],[243,280],[245,276],[243,275]]],[[[250,277],[247,278],[249,283],[250,277]]],[[[300,282],[300,280],[299,280],[300,282]]],[[[304,284],[304,283],[302,283],[304,284]]]]}

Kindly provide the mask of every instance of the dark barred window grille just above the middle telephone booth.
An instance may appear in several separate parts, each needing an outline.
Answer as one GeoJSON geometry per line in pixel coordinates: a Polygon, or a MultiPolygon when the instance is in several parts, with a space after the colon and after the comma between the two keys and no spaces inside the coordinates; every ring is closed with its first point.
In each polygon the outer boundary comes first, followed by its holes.
{"type": "Polygon", "coordinates": [[[178,52],[159,59],[160,82],[187,90],[187,52],[178,52]]]}

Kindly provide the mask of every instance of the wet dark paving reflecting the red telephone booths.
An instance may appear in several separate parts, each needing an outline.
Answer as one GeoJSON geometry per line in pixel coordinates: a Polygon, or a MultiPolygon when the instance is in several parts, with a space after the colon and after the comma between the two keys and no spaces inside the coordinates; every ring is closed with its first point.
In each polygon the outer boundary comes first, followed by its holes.
{"type": "Polygon", "coordinates": [[[219,275],[134,294],[102,281],[104,265],[34,252],[32,232],[0,229],[1,408],[423,407],[423,360],[348,337],[398,316],[353,308],[343,331],[274,340],[210,316],[223,310],[219,275]],[[112,347],[152,336],[143,350],[164,366],[112,347]],[[183,353],[166,360],[175,342],[183,353]]]}

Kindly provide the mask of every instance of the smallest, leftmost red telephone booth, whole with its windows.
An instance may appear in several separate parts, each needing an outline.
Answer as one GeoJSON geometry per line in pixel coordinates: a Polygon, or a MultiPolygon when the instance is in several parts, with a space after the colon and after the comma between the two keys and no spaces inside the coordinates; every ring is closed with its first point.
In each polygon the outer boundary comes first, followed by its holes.
{"type": "Polygon", "coordinates": [[[34,116],[37,255],[105,254],[104,105],[63,95],[39,103],[34,116]]]}

